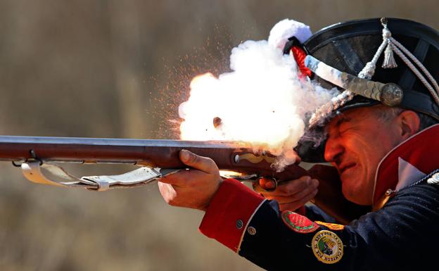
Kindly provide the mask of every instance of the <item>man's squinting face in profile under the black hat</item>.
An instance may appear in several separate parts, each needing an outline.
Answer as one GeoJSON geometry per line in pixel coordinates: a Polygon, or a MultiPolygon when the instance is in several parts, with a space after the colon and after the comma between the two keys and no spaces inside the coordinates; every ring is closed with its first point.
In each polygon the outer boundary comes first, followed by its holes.
{"type": "Polygon", "coordinates": [[[325,159],[337,168],[343,195],[357,204],[372,204],[378,163],[401,141],[396,116],[380,118],[380,112],[386,109],[351,109],[331,120],[327,127],[325,159]]]}

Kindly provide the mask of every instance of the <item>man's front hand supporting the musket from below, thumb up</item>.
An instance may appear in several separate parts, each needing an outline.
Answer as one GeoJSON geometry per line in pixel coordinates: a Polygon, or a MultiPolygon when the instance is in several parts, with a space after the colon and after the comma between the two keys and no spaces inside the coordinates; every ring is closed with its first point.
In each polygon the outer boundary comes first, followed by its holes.
{"type": "Polygon", "coordinates": [[[182,150],[180,160],[191,169],[167,175],[158,182],[160,194],[171,206],[206,210],[222,178],[215,162],[182,150]]]}

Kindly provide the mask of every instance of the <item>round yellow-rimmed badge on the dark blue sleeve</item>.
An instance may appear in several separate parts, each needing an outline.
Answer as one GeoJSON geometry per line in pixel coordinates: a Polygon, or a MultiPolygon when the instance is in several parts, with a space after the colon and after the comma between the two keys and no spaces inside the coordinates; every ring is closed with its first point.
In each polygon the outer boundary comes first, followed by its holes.
{"type": "Polygon", "coordinates": [[[343,242],[333,232],[322,230],[312,237],[312,252],[322,263],[337,263],[343,257],[343,242]]]}

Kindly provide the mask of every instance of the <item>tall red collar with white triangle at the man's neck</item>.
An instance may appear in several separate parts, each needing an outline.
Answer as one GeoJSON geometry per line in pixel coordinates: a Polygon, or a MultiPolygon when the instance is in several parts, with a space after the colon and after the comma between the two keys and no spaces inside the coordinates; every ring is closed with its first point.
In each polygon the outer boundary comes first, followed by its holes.
{"type": "Polygon", "coordinates": [[[393,148],[378,165],[375,204],[387,189],[401,189],[439,168],[439,124],[428,127],[393,148]]]}

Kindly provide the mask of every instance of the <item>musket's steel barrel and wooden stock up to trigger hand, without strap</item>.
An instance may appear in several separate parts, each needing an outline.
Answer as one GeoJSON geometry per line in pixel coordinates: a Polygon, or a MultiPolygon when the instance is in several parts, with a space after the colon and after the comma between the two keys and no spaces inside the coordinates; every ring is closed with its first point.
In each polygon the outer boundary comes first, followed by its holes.
{"type": "Polygon", "coordinates": [[[151,168],[186,168],[179,160],[182,149],[211,158],[221,170],[288,179],[306,174],[298,165],[276,172],[272,168],[274,156],[254,154],[251,145],[242,141],[0,136],[0,160],[133,163],[151,168]]]}

